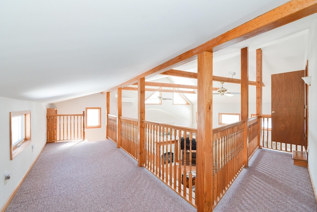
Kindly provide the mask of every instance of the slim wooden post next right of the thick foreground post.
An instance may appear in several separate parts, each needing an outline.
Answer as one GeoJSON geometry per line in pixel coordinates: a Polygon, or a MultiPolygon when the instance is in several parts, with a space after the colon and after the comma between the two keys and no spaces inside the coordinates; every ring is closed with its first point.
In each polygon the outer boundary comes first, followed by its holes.
{"type": "Polygon", "coordinates": [[[249,118],[249,69],[248,69],[248,47],[241,49],[241,120],[245,121],[243,126],[243,149],[244,164],[248,167],[248,118],[249,118]]]}

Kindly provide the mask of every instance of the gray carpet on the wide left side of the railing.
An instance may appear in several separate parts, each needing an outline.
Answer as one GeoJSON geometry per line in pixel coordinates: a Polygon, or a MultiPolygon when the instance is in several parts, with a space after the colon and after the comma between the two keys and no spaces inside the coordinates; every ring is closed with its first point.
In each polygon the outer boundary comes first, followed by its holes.
{"type": "Polygon", "coordinates": [[[195,212],[112,141],[48,143],[6,212],[195,212]]]}

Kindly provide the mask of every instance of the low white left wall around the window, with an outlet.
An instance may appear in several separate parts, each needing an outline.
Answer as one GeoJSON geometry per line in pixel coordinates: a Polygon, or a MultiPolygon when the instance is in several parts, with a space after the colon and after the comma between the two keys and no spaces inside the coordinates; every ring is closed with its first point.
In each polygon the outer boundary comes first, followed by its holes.
{"type": "Polygon", "coordinates": [[[0,97],[0,210],[46,144],[46,104],[0,97]],[[9,113],[31,111],[31,143],[10,160],[9,113]],[[35,149],[32,151],[32,144],[35,149]],[[11,178],[4,185],[4,173],[11,178]]]}

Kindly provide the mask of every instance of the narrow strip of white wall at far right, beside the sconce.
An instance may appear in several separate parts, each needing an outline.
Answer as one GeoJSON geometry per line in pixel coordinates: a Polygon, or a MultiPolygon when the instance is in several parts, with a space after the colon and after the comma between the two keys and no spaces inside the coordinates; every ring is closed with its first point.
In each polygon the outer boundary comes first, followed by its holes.
{"type": "Polygon", "coordinates": [[[314,186],[317,189],[317,21],[315,21],[309,32],[308,61],[308,75],[312,76],[312,85],[309,87],[308,97],[308,164],[314,186]]]}

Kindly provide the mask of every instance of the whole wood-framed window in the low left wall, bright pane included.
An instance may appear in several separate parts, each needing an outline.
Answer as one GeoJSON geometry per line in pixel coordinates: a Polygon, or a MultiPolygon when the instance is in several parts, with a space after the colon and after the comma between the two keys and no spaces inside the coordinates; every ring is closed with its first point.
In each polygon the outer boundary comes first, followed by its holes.
{"type": "Polygon", "coordinates": [[[31,111],[10,112],[10,159],[31,142],[31,111]]]}

